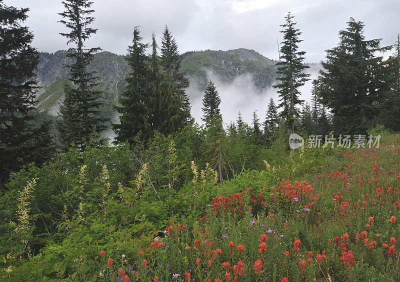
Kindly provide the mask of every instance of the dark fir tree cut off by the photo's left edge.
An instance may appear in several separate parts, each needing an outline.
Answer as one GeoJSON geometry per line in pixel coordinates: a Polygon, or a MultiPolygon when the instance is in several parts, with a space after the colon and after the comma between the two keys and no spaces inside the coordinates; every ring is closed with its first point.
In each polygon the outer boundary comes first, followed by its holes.
{"type": "Polygon", "coordinates": [[[50,122],[33,124],[39,56],[30,45],[33,34],[22,26],[28,10],[0,0],[0,187],[10,172],[31,161],[39,165],[52,153],[50,122]]]}

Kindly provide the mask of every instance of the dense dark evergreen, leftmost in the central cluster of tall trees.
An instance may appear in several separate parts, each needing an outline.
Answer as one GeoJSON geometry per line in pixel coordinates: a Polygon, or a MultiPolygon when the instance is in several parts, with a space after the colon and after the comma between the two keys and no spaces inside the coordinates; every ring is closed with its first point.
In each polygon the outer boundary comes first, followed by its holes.
{"type": "MultiPolygon", "coordinates": [[[[119,124],[112,124],[116,133],[115,142],[121,143],[128,141],[133,143],[134,137],[139,133],[145,132],[148,128],[148,69],[146,65],[147,57],[144,53],[147,44],[141,43],[142,37],[137,26],[133,30],[132,45],[128,46],[129,55],[126,61],[130,66],[129,75],[125,78],[126,86],[124,92],[118,99],[119,104],[114,105],[120,114],[119,124]]],[[[149,136],[144,136],[148,139],[149,136]]]]}

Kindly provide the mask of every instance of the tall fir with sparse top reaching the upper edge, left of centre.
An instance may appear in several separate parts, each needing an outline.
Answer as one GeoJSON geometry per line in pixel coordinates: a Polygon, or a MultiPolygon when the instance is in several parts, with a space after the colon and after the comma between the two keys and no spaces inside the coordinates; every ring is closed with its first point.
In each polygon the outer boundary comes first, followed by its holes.
{"type": "Polygon", "coordinates": [[[96,133],[100,133],[105,129],[104,122],[106,119],[102,117],[99,107],[102,102],[99,100],[101,91],[95,90],[98,85],[95,82],[97,77],[94,76],[95,71],[88,71],[87,66],[92,60],[93,53],[100,50],[99,47],[84,48],[83,43],[96,33],[97,29],[89,27],[94,21],[94,17],[90,14],[92,2],[88,0],[65,0],[62,1],[65,11],[59,13],[62,18],[60,20],[69,28],[68,33],[60,33],[67,38],[67,44],[73,43],[76,47],[68,49],[67,57],[73,60],[73,63],[66,65],[69,68],[69,82],[71,86],[65,89],[65,104],[60,111],[63,122],[58,127],[64,127],[61,132],[71,136],[60,136],[62,145],[67,147],[69,144],[65,141],[73,140],[80,147],[96,133]],[[67,93],[69,91],[69,93],[67,93]],[[68,108],[70,107],[70,108],[68,108]],[[74,114],[72,110],[75,110],[74,114]],[[71,125],[71,123],[74,123],[71,125]],[[75,131],[68,131],[69,126],[73,126],[75,131]]]}

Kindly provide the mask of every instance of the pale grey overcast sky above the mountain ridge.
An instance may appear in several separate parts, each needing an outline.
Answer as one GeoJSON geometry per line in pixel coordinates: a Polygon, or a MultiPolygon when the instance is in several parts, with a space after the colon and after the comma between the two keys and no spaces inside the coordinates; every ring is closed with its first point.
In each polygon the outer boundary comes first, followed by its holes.
{"type": "MultiPolygon", "coordinates": [[[[365,22],[367,38],[383,38],[392,44],[400,32],[399,0],[93,0],[96,34],[87,46],[100,46],[125,54],[133,26],[141,26],[145,42],[151,33],[162,34],[167,24],[179,51],[249,48],[276,59],[276,37],[291,11],[304,41],[307,62],[324,58],[324,50],[338,43],[337,33],[350,16],[365,22]]],[[[40,51],[66,49],[65,31],[57,22],[61,0],[4,0],[6,5],[28,7],[26,25],[34,33],[33,46],[40,51]]]]}

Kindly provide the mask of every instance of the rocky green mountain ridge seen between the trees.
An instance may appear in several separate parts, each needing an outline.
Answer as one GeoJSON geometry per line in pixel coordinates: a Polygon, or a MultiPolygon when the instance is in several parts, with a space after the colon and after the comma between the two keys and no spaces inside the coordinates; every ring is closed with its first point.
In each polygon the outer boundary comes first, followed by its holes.
{"type": "MultiPolygon", "coordinates": [[[[41,89],[37,92],[36,107],[40,111],[47,111],[57,115],[59,102],[62,100],[62,85],[68,73],[65,63],[70,60],[65,56],[66,51],[55,53],[40,53],[40,62],[37,66],[37,80],[41,89]]],[[[203,89],[207,83],[208,74],[217,75],[221,81],[231,82],[242,74],[250,74],[253,83],[259,89],[270,86],[275,74],[275,61],[270,60],[254,50],[239,48],[228,51],[190,51],[182,54],[181,70],[186,71],[190,83],[203,89]]],[[[89,70],[97,72],[99,89],[104,92],[104,108],[102,113],[112,118],[114,110],[112,103],[125,86],[125,76],[129,67],[124,56],[108,51],[94,55],[89,70]]]]}

